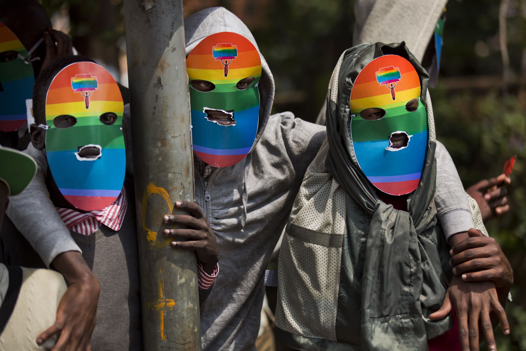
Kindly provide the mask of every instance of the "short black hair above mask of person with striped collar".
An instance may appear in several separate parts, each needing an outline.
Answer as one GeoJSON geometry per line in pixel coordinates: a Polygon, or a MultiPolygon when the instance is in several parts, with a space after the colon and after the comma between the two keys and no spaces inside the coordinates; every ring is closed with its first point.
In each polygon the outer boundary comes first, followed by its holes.
{"type": "Polygon", "coordinates": [[[35,123],[37,125],[46,124],[46,96],[53,78],[55,78],[64,67],[76,62],[96,63],[94,60],[81,55],[60,57],[44,68],[36,77],[35,86],[33,87],[33,117],[35,117],[35,123]]]}

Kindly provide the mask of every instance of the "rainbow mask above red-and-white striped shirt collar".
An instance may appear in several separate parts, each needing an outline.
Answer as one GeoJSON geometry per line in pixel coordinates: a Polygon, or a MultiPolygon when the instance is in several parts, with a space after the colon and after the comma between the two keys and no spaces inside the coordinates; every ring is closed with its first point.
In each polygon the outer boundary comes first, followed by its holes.
{"type": "Polygon", "coordinates": [[[123,98],[103,67],[66,66],[47,91],[46,154],[58,189],[84,211],[102,210],[120,194],[126,170],[123,98]]]}

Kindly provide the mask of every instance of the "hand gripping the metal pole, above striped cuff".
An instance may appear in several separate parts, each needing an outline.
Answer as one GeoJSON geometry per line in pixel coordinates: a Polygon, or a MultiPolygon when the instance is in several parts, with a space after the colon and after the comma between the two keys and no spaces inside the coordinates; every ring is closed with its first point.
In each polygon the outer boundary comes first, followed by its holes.
{"type": "Polygon", "coordinates": [[[210,228],[203,210],[195,202],[179,200],[175,202],[179,210],[187,211],[186,214],[166,214],[163,222],[166,224],[179,224],[187,229],[165,229],[164,234],[174,240],[172,247],[183,250],[195,250],[197,260],[203,265],[203,270],[211,275],[218,261],[216,234],[210,228]]]}

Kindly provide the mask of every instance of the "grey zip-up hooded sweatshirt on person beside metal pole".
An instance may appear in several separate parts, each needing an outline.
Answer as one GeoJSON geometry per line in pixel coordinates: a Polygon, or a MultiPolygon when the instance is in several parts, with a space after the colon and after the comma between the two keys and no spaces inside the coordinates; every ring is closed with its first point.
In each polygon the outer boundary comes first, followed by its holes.
{"type": "MultiPolygon", "coordinates": [[[[186,19],[186,53],[203,38],[219,32],[238,33],[257,48],[239,18],[225,8],[213,7],[186,19]]],[[[259,126],[250,153],[234,166],[215,169],[206,181],[197,170],[195,173],[196,202],[216,234],[220,266],[214,290],[201,306],[204,350],[255,349],[265,269],[305,171],[326,138],[324,126],[294,118],[290,112],[270,116],[274,79],[264,57],[260,57],[259,126]]],[[[131,160],[129,144],[126,149],[131,160]]],[[[34,154],[35,149],[30,145],[27,151],[34,154]]],[[[443,152],[447,154],[445,149],[443,152]]],[[[42,168],[47,169],[47,164],[39,162],[40,176],[25,191],[29,193],[11,199],[8,215],[49,265],[59,253],[80,250],[49,200],[42,168]],[[39,206],[35,206],[35,199],[39,206]],[[27,208],[33,209],[31,218],[27,218],[27,208]]],[[[438,172],[448,174],[448,182],[461,184],[454,166],[438,172]]],[[[437,183],[437,188],[448,194],[447,185],[437,183]]],[[[472,226],[469,204],[464,206],[454,194],[447,200],[442,206],[437,204],[439,213],[449,213],[452,222],[458,219],[461,226],[454,226],[453,232],[467,231],[472,226]],[[466,218],[471,223],[466,223],[466,218]]]]}

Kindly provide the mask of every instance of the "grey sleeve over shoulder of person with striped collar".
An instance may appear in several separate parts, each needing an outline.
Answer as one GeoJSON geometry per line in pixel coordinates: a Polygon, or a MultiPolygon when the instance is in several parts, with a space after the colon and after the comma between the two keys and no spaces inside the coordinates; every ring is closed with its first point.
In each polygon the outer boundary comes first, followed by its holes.
{"type": "Polygon", "coordinates": [[[22,193],[9,198],[7,216],[16,229],[40,255],[49,267],[55,257],[66,251],[80,251],[69,230],[60,219],[49,199],[46,187],[47,159],[44,151],[37,150],[30,143],[24,151],[37,163],[35,178],[22,193]]]}

